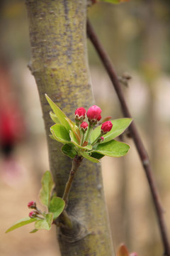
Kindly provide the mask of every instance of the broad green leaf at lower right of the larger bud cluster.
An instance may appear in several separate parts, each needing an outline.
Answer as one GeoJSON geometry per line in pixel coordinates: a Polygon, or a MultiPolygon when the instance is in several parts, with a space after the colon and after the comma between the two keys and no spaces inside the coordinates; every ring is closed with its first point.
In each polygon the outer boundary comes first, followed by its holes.
{"type": "Polygon", "coordinates": [[[117,142],[113,139],[109,142],[98,144],[93,151],[106,156],[118,157],[127,154],[129,149],[130,146],[128,144],[117,142]]]}

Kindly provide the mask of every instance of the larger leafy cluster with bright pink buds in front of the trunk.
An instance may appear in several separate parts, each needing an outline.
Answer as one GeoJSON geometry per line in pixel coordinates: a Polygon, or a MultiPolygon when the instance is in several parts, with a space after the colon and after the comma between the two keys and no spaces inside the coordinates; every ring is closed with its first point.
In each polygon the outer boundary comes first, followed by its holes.
{"type": "Polygon", "coordinates": [[[64,144],[62,152],[71,159],[82,156],[97,163],[103,156],[118,157],[128,153],[130,146],[117,142],[115,137],[128,128],[132,122],[131,118],[108,121],[111,117],[106,117],[102,124],[98,124],[101,120],[101,108],[94,105],[89,107],[87,112],[84,107],[77,108],[75,122],[72,122],[50,97],[47,95],[45,97],[53,111],[50,112],[50,117],[55,122],[50,127],[52,133],[50,137],[64,144]]]}

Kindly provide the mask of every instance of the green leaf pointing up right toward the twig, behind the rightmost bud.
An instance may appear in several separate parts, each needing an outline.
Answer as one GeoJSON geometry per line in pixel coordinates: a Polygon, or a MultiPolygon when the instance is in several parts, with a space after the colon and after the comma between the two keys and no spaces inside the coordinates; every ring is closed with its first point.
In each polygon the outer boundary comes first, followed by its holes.
{"type": "MultiPolygon", "coordinates": [[[[111,122],[113,124],[113,127],[110,132],[103,135],[104,140],[101,143],[106,143],[111,139],[115,139],[115,137],[118,137],[120,134],[122,134],[125,131],[125,129],[128,128],[128,126],[132,122],[132,119],[120,118],[120,119],[111,120],[111,122]]],[[[100,134],[101,134],[101,125],[96,127],[96,129],[94,129],[91,132],[91,143],[93,143],[100,134]]]]}

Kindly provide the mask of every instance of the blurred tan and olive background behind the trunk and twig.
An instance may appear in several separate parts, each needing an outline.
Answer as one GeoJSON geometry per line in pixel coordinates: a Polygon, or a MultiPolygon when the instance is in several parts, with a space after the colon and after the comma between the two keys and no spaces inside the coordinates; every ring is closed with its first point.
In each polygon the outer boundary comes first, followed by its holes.
{"type": "MultiPolygon", "coordinates": [[[[98,3],[91,23],[116,72],[132,76],[122,85],[132,117],[149,152],[170,234],[170,2],[98,3]]],[[[40,178],[49,169],[38,90],[27,68],[28,21],[23,0],[0,1],[0,255],[60,256],[55,227],[30,234],[31,224],[5,234],[38,201],[40,178]],[[3,136],[2,136],[3,134],[3,136]]],[[[122,117],[111,81],[88,42],[91,80],[103,117],[122,117]]],[[[127,156],[102,160],[103,182],[115,249],[121,242],[139,256],[160,256],[162,240],[149,186],[132,139],[127,156]]]]}

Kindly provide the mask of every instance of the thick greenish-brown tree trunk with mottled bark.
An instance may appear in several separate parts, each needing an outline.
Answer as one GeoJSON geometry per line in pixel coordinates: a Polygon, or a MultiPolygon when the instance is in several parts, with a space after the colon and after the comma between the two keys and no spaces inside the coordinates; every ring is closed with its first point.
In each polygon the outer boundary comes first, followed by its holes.
{"type": "MultiPolygon", "coordinates": [[[[86,0],[26,0],[30,28],[30,70],[38,85],[49,151],[50,170],[62,196],[71,169],[61,144],[50,134],[45,93],[70,119],[77,107],[93,105],[86,53],[86,0]]],[[[101,167],[84,159],[74,180],[67,213],[84,230],[57,230],[62,255],[114,255],[103,195],[101,167]],[[82,232],[81,232],[82,231],[82,232]]]]}

